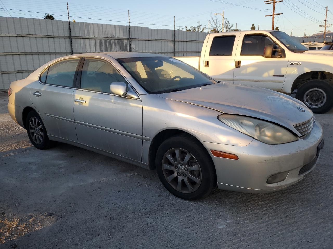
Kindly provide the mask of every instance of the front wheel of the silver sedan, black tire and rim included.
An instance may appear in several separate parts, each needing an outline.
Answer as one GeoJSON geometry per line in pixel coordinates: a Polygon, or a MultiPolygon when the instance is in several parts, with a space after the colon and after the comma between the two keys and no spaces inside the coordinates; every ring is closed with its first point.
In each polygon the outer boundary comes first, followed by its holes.
{"type": "Polygon", "coordinates": [[[156,170],[166,189],[185,200],[204,198],[216,188],[210,155],[199,141],[185,134],[170,137],[160,145],[156,170]]]}

